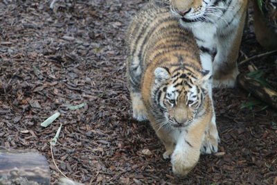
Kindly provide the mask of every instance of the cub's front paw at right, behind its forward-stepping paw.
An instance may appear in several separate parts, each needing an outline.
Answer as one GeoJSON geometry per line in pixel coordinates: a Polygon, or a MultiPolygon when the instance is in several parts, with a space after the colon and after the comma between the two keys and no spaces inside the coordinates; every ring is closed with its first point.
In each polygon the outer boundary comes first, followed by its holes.
{"type": "Polygon", "coordinates": [[[220,142],[220,137],[218,136],[218,132],[211,132],[210,130],[205,134],[204,141],[202,142],[202,146],[200,152],[202,154],[211,154],[216,153],[218,149],[218,143],[220,142]]]}

